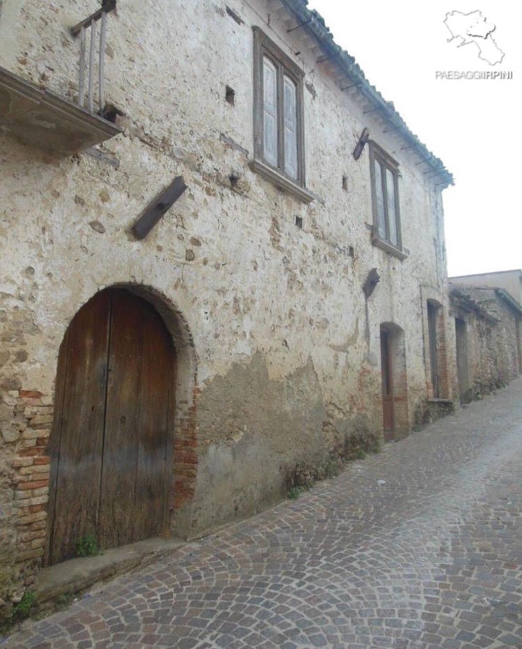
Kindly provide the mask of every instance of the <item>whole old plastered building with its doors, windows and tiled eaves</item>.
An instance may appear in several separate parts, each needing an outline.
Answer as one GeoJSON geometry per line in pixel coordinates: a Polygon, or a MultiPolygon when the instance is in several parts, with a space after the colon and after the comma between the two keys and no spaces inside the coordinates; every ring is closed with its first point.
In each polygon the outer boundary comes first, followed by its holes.
{"type": "Polygon", "coordinates": [[[451,403],[452,177],[306,2],[3,0],[0,66],[4,615],[451,403]]]}

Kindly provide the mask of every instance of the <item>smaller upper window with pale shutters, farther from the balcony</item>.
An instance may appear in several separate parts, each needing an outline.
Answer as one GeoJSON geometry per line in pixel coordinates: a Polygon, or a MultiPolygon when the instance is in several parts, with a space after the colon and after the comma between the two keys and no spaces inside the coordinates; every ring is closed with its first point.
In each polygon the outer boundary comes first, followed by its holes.
{"type": "Polygon", "coordinates": [[[370,143],[374,243],[402,257],[399,212],[399,166],[374,142],[370,143]]]}

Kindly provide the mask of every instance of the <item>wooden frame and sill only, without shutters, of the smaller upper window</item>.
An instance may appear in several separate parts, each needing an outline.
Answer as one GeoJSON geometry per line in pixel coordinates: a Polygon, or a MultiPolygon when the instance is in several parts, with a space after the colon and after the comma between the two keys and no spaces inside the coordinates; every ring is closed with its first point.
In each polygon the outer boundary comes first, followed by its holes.
{"type": "Polygon", "coordinates": [[[395,161],[385,150],[383,150],[377,143],[370,141],[370,177],[372,181],[372,214],[373,214],[373,227],[372,227],[372,243],[379,248],[383,248],[386,252],[399,257],[399,259],[406,259],[408,255],[404,253],[402,248],[402,228],[400,218],[400,199],[399,199],[399,163],[395,161]],[[377,200],[377,174],[375,170],[376,164],[381,165],[381,189],[382,189],[382,202],[384,211],[384,225],[386,227],[386,234],[383,235],[379,228],[379,211],[377,200]],[[386,172],[389,172],[393,177],[393,198],[395,207],[395,230],[397,232],[397,243],[393,243],[390,237],[390,214],[388,202],[388,179],[386,172]]]}

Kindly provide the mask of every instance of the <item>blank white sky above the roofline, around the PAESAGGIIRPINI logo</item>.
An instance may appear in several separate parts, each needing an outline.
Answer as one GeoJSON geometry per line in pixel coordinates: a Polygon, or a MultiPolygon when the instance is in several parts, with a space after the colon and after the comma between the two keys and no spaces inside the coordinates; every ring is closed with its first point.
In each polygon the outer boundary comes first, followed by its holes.
{"type": "Polygon", "coordinates": [[[443,192],[449,275],[522,268],[519,173],[522,4],[507,0],[309,0],[335,42],[454,176],[443,192]],[[448,42],[450,11],[480,10],[505,53],[448,42]],[[513,79],[437,80],[437,70],[512,71],[513,79]],[[518,200],[517,200],[518,199],[518,200]]]}

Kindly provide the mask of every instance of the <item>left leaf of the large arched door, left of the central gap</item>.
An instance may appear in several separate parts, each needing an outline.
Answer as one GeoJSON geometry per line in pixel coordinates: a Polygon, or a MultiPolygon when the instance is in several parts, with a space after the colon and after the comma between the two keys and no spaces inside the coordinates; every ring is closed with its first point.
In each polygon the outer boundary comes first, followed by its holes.
{"type": "Polygon", "coordinates": [[[49,563],[75,556],[77,541],[96,534],[110,312],[111,294],[97,294],[74,317],[60,351],[49,563]]]}

